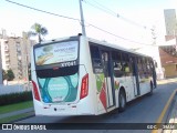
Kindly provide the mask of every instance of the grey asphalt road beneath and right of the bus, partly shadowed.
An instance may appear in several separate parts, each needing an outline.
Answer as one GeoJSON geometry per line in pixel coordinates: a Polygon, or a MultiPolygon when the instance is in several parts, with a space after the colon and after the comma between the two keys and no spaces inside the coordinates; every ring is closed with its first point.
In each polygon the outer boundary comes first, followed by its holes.
{"type": "MultiPolygon", "coordinates": [[[[145,95],[128,103],[126,111],[123,113],[118,113],[116,110],[100,116],[34,116],[19,123],[155,123],[175,89],[177,89],[177,82],[158,84],[153,95],[145,95]]],[[[51,132],[70,133],[71,130],[54,130],[51,132]]],[[[73,132],[150,133],[150,130],[72,130],[73,132]]]]}

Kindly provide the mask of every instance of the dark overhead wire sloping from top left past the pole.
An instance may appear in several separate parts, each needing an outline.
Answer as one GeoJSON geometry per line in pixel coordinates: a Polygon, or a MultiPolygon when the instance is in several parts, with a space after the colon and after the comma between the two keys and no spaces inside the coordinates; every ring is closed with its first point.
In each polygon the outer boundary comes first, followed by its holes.
{"type": "MultiPolygon", "coordinates": [[[[75,20],[75,21],[79,21],[81,23],[81,20],[80,19],[75,19],[75,18],[71,18],[71,17],[66,17],[66,16],[61,16],[61,14],[56,14],[56,13],[52,13],[52,12],[49,12],[49,11],[45,11],[45,10],[41,10],[41,9],[37,9],[37,8],[33,8],[33,7],[29,7],[29,6],[25,6],[25,4],[21,4],[21,3],[18,3],[18,2],[14,2],[14,1],[11,1],[11,0],[6,0],[7,2],[10,2],[10,3],[13,3],[13,4],[17,4],[17,6],[20,6],[20,7],[23,7],[23,8],[28,8],[28,9],[31,9],[31,10],[35,10],[35,11],[40,11],[40,12],[43,12],[43,13],[48,13],[48,14],[51,14],[51,16],[55,16],[55,17],[61,17],[61,18],[64,18],[64,19],[71,19],[71,20],[75,20]]],[[[87,23],[87,22],[86,22],[87,23]]],[[[82,24],[82,23],[81,23],[82,24]]],[[[129,42],[134,42],[134,43],[138,43],[138,44],[144,44],[144,45],[153,45],[153,44],[147,44],[147,43],[142,43],[142,42],[137,42],[137,41],[134,41],[134,40],[131,40],[131,39],[126,39],[126,38],[123,38],[121,35],[116,35],[110,31],[106,31],[102,28],[98,28],[94,24],[91,24],[91,23],[87,23],[86,27],[93,27],[100,31],[103,31],[105,33],[108,33],[111,35],[114,35],[116,38],[119,38],[122,40],[126,40],[126,41],[129,41],[129,42]]]]}

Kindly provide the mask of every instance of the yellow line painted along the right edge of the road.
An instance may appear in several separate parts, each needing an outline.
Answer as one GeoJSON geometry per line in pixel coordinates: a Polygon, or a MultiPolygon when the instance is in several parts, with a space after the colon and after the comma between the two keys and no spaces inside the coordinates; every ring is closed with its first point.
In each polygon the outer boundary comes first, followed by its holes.
{"type": "MultiPolygon", "coordinates": [[[[173,101],[176,92],[177,92],[177,89],[176,89],[176,90],[173,92],[173,94],[170,95],[168,102],[166,103],[166,105],[165,105],[163,112],[160,113],[158,120],[156,121],[156,123],[162,123],[162,122],[163,122],[164,115],[166,114],[167,109],[169,108],[169,104],[171,103],[171,101],[173,101]]],[[[153,130],[152,133],[158,133],[158,130],[153,130]]]]}

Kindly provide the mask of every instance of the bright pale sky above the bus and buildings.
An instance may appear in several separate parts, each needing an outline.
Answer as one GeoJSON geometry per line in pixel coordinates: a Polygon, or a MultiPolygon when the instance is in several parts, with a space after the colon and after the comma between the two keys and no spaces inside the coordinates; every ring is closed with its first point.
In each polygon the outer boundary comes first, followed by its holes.
{"type": "MultiPolygon", "coordinates": [[[[82,32],[79,0],[11,1],[77,20],[38,12],[1,0],[0,29],[6,29],[9,35],[21,35],[35,22],[48,29],[45,40],[82,32]]],[[[164,43],[164,9],[177,9],[176,0],[83,0],[82,6],[87,37],[134,49],[152,44],[152,28],[155,28],[156,43],[164,43]]]]}

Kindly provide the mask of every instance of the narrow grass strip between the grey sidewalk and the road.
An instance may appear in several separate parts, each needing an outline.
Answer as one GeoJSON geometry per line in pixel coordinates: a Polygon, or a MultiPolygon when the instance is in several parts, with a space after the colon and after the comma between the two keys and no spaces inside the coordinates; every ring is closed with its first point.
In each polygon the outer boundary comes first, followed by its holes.
{"type": "Polygon", "coordinates": [[[0,123],[13,122],[15,120],[23,119],[23,117],[27,117],[27,116],[30,116],[30,115],[33,115],[33,112],[28,112],[28,113],[22,113],[22,114],[0,119],[0,123]]]}

